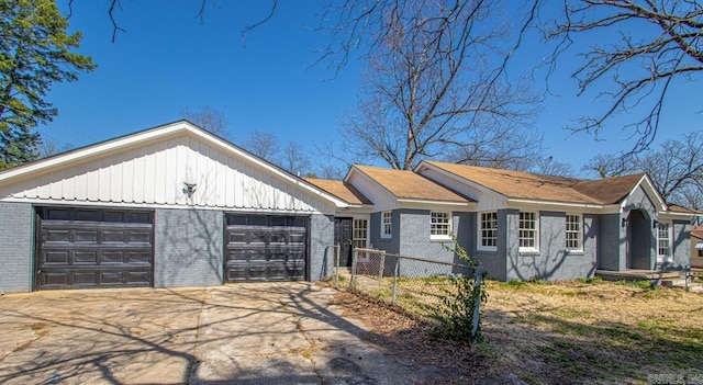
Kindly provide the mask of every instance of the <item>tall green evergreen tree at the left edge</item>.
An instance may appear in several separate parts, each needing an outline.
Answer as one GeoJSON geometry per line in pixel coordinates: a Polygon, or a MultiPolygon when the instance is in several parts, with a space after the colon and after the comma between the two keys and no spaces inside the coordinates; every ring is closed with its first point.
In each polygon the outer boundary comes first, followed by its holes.
{"type": "Polygon", "coordinates": [[[46,100],[52,84],[96,68],[70,52],[82,36],[67,27],[54,0],[0,0],[0,169],[38,157],[33,129],[57,113],[46,100]]]}

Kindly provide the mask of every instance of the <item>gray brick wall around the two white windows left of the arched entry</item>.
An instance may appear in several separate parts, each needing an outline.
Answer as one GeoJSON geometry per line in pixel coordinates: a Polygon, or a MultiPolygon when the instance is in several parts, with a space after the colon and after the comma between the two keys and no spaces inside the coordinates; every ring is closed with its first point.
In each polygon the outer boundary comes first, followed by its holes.
{"type": "Polygon", "coordinates": [[[582,217],[584,224],[584,242],[582,251],[566,250],[566,213],[539,212],[539,248],[538,252],[518,251],[518,214],[511,212],[509,224],[511,242],[515,250],[510,250],[507,281],[517,280],[572,280],[593,276],[596,267],[593,245],[596,234],[594,218],[582,217]],[[514,238],[514,239],[513,239],[514,238]]]}

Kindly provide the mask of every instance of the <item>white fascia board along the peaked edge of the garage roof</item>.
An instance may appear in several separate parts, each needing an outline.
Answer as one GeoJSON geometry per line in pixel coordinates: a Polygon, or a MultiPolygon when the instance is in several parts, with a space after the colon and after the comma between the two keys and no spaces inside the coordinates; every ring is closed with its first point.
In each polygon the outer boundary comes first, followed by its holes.
{"type": "Polygon", "coordinates": [[[64,165],[72,163],[75,161],[87,160],[96,156],[103,156],[105,155],[105,152],[129,148],[130,146],[134,146],[137,144],[142,145],[156,139],[163,139],[170,135],[175,135],[181,131],[185,131],[190,135],[193,135],[209,144],[212,144],[213,146],[223,149],[223,151],[225,152],[233,154],[239,158],[245,158],[248,162],[259,168],[263,168],[265,170],[268,170],[269,172],[272,172],[276,177],[291,184],[294,184],[312,193],[313,195],[317,195],[323,200],[333,203],[337,207],[346,207],[348,205],[346,202],[305,182],[303,179],[294,177],[293,174],[290,174],[286,171],[282,171],[277,167],[274,167],[269,162],[258,157],[252,156],[250,154],[239,149],[238,147],[233,146],[231,143],[224,139],[221,139],[220,137],[213,134],[207,133],[202,128],[199,128],[187,121],[180,121],[180,122],[167,124],[164,126],[140,132],[136,134],[132,134],[132,135],[119,137],[115,139],[111,139],[108,141],[99,143],[96,145],[91,145],[85,148],[79,148],[77,150],[68,151],[63,155],[57,155],[55,157],[46,158],[44,160],[37,160],[35,162],[32,162],[25,166],[19,166],[19,167],[12,168],[8,171],[0,172],[0,183],[2,183],[5,180],[31,174],[33,172],[37,172],[41,170],[57,168],[64,165]]]}

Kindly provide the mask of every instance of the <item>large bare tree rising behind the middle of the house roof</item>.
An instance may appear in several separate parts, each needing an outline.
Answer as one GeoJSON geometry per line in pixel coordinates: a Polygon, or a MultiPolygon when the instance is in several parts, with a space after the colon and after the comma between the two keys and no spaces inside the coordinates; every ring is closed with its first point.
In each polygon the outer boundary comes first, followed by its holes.
{"type": "Polygon", "coordinates": [[[376,12],[381,36],[341,131],[349,156],[412,169],[448,154],[491,161],[540,148],[540,140],[523,140],[538,102],[531,83],[500,75],[506,26],[498,1],[361,2],[376,12]]]}

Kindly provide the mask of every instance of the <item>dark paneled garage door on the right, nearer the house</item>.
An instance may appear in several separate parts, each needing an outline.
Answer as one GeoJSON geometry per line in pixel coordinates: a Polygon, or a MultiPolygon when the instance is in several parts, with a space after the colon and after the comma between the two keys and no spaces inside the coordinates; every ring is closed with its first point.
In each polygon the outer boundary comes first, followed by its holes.
{"type": "Polygon", "coordinates": [[[225,239],[227,282],[305,279],[305,217],[228,214],[225,239]]]}

